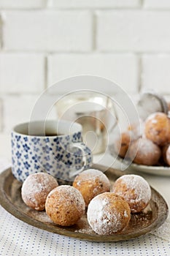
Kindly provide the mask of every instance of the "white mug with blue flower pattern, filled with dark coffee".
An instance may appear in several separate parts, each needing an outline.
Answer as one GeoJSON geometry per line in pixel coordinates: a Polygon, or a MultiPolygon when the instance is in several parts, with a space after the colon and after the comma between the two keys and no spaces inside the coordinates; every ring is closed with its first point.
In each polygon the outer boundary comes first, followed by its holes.
{"type": "Polygon", "coordinates": [[[63,181],[90,168],[93,157],[82,143],[82,126],[69,121],[18,124],[11,133],[12,173],[19,181],[47,172],[63,181]]]}

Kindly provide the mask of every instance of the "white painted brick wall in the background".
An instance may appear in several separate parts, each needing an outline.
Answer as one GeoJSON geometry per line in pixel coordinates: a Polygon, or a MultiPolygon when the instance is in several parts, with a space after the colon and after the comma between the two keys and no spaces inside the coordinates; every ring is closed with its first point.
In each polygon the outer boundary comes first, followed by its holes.
{"type": "Polygon", "coordinates": [[[169,23],[169,0],[0,0],[0,132],[28,121],[39,94],[73,75],[169,97],[169,23]]]}

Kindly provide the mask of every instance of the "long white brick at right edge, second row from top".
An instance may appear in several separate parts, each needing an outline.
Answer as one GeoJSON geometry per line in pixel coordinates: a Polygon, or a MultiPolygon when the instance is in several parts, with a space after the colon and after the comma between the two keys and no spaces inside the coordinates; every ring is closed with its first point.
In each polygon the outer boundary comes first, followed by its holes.
{"type": "Polygon", "coordinates": [[[170,50],[170,12],[97,12],[97,49],[155,52],[170,50]]]}

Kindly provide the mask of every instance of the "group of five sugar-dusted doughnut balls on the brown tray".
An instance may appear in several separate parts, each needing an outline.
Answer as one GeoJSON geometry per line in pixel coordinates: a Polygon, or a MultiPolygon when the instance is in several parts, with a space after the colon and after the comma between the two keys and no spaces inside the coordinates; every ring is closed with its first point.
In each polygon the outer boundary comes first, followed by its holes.
{"type": "Polygon", "coordinates": [[[85,214],[92,230],[112,235],[128,227],[131,214],[143,211],[151,198],[150,185],[137,175],[124,175],[111,185],[100,170],[84,170],[72,186],[61,185],[47,173],[26,178],[21,196],[27,206],[45,210],[56,224],[71,226],[85,214]]]}

